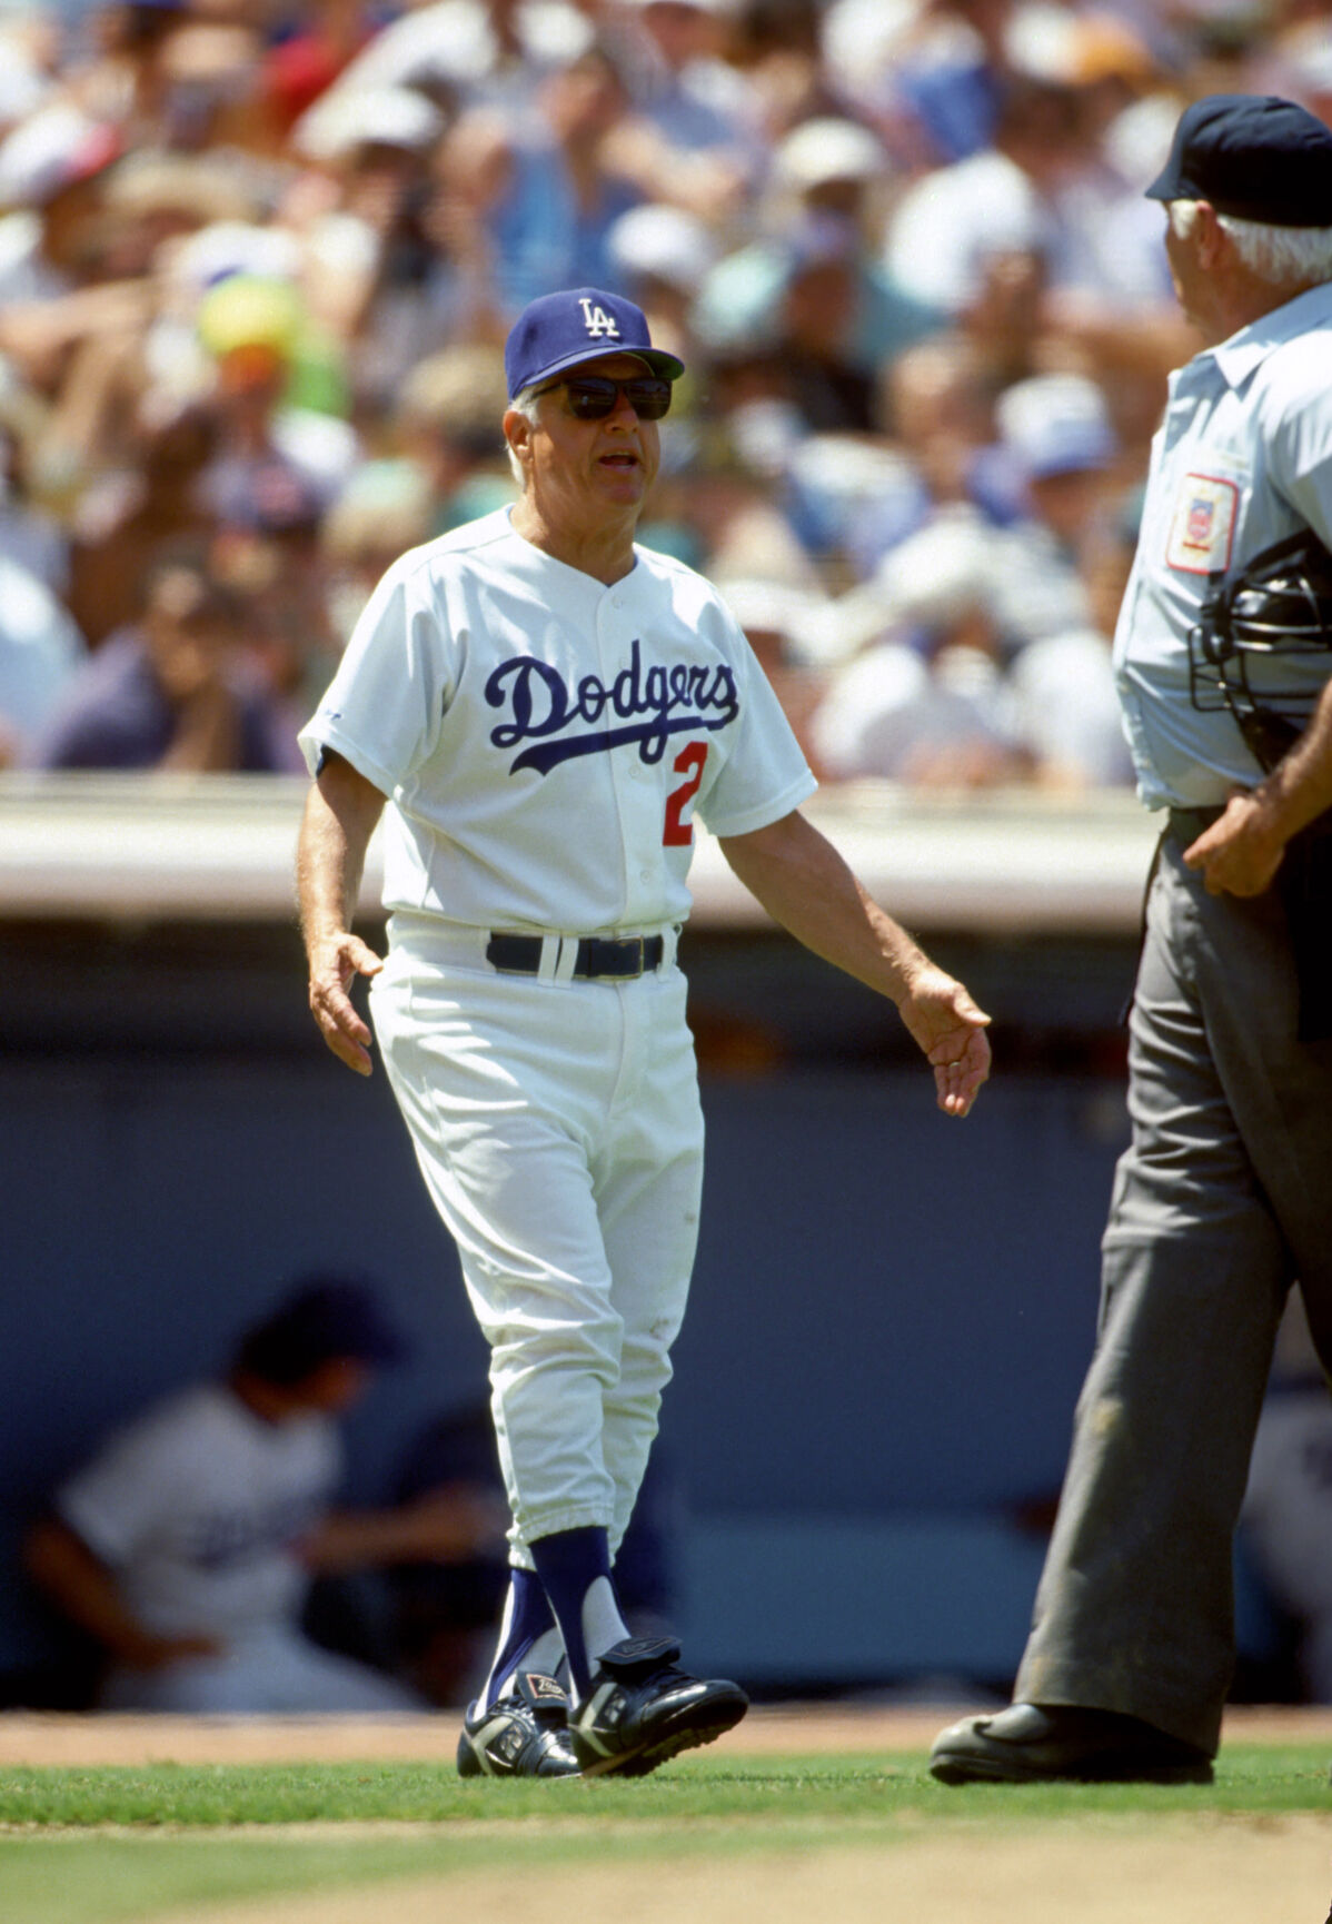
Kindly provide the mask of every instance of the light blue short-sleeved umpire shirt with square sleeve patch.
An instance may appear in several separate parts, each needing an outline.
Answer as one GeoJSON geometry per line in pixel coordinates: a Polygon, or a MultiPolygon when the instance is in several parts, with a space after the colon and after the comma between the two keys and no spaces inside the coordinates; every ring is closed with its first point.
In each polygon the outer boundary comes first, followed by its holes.
{"type": "MultiPolygon", "coordinates": [[[[1138,554],[1114,631],[1124,731],[1149,808],[1211,808],[1263,770],[1232,716],[1190,700],[1188,635],[1213,570],[1311,527],[1332,548],[1332,285],[1313,287],[1170,375],[1138,554]]],[[[1317,693],[1332,652],[1288,656],[1317,693]]]]}

